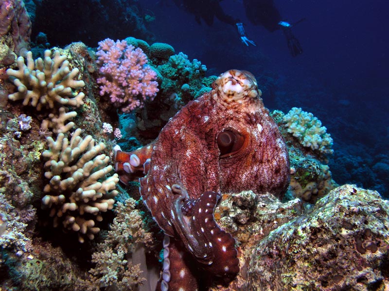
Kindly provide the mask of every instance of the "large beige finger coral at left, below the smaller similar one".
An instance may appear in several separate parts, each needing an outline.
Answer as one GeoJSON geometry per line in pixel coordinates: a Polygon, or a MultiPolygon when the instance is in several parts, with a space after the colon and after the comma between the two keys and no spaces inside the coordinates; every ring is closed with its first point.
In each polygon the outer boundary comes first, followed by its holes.
{"type": "Polygon", "coordinates": [[[76,129],[70,141],[63,133],[55,141],[47,138],[49,149],[42,155],[48,159],[45,177],[50,181],[43,190],[42,207],[50,209],[54,226],[62,222],[84,242],[100,231],[96,222],[102,221],[101,213],[113,208],[119,178],[117,174],[106,177],[113,168],[109,158],[99,154],[105,144],[95,145],[90,135],[81,138],[80,134],[81,129],[76,129]]]}

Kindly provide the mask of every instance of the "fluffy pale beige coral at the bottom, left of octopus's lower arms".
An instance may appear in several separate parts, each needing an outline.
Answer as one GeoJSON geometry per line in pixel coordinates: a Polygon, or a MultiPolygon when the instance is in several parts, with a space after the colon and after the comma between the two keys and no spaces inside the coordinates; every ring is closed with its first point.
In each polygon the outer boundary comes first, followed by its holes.
{"type": "Polygon", "coordinates": [[[145,279],[139,264],[133,264],[128,252],[137,243],[151,240],[151,234],[144,231],[142,217],[135,209],[135,200],[129,198],[125,205],[118,203],[105,241],[99,243],[97,251],[92,255],[95,268],[89,272],[92,281],[99,287],[113,287],[115,290],[129,290],[141,284],[145,279]]]}

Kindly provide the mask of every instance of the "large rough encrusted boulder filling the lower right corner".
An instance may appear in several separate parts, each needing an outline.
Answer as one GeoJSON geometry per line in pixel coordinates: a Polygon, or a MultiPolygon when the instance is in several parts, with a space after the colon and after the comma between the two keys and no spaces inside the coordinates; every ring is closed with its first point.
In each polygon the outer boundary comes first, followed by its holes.
{"type": "Polygon", "coordinates": [[[250,290],[387,290],[389,205],[344,185],[252,248],[250,290]]]}

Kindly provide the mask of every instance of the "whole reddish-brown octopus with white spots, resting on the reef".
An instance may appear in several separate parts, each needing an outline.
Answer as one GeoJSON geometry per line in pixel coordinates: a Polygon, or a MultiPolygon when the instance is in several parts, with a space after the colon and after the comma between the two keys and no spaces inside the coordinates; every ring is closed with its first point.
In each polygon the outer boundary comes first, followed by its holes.
{"type": "Polygon", "coordinates": [[[171,118],[154,142],[116,152],[122,182],[145,175],[141,198],[165,234],[158,289],[195,291],[216,277],[234,279],[240,269],[235,240],[213,216],[221,194],[286,192],[287,147],[261,95],[251,73],[229,70],[171,118]]]}

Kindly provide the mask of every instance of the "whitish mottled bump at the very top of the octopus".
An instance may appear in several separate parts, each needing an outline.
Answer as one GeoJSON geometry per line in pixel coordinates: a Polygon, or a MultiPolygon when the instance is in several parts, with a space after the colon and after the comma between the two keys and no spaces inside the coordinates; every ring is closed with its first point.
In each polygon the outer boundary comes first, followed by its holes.
{"type": "Polygon", "coordinates": [[[255,77],[248,71],[229,70],[217,78],[214,88],[227,103],[243,103],[262,95],[255,77]]]}

